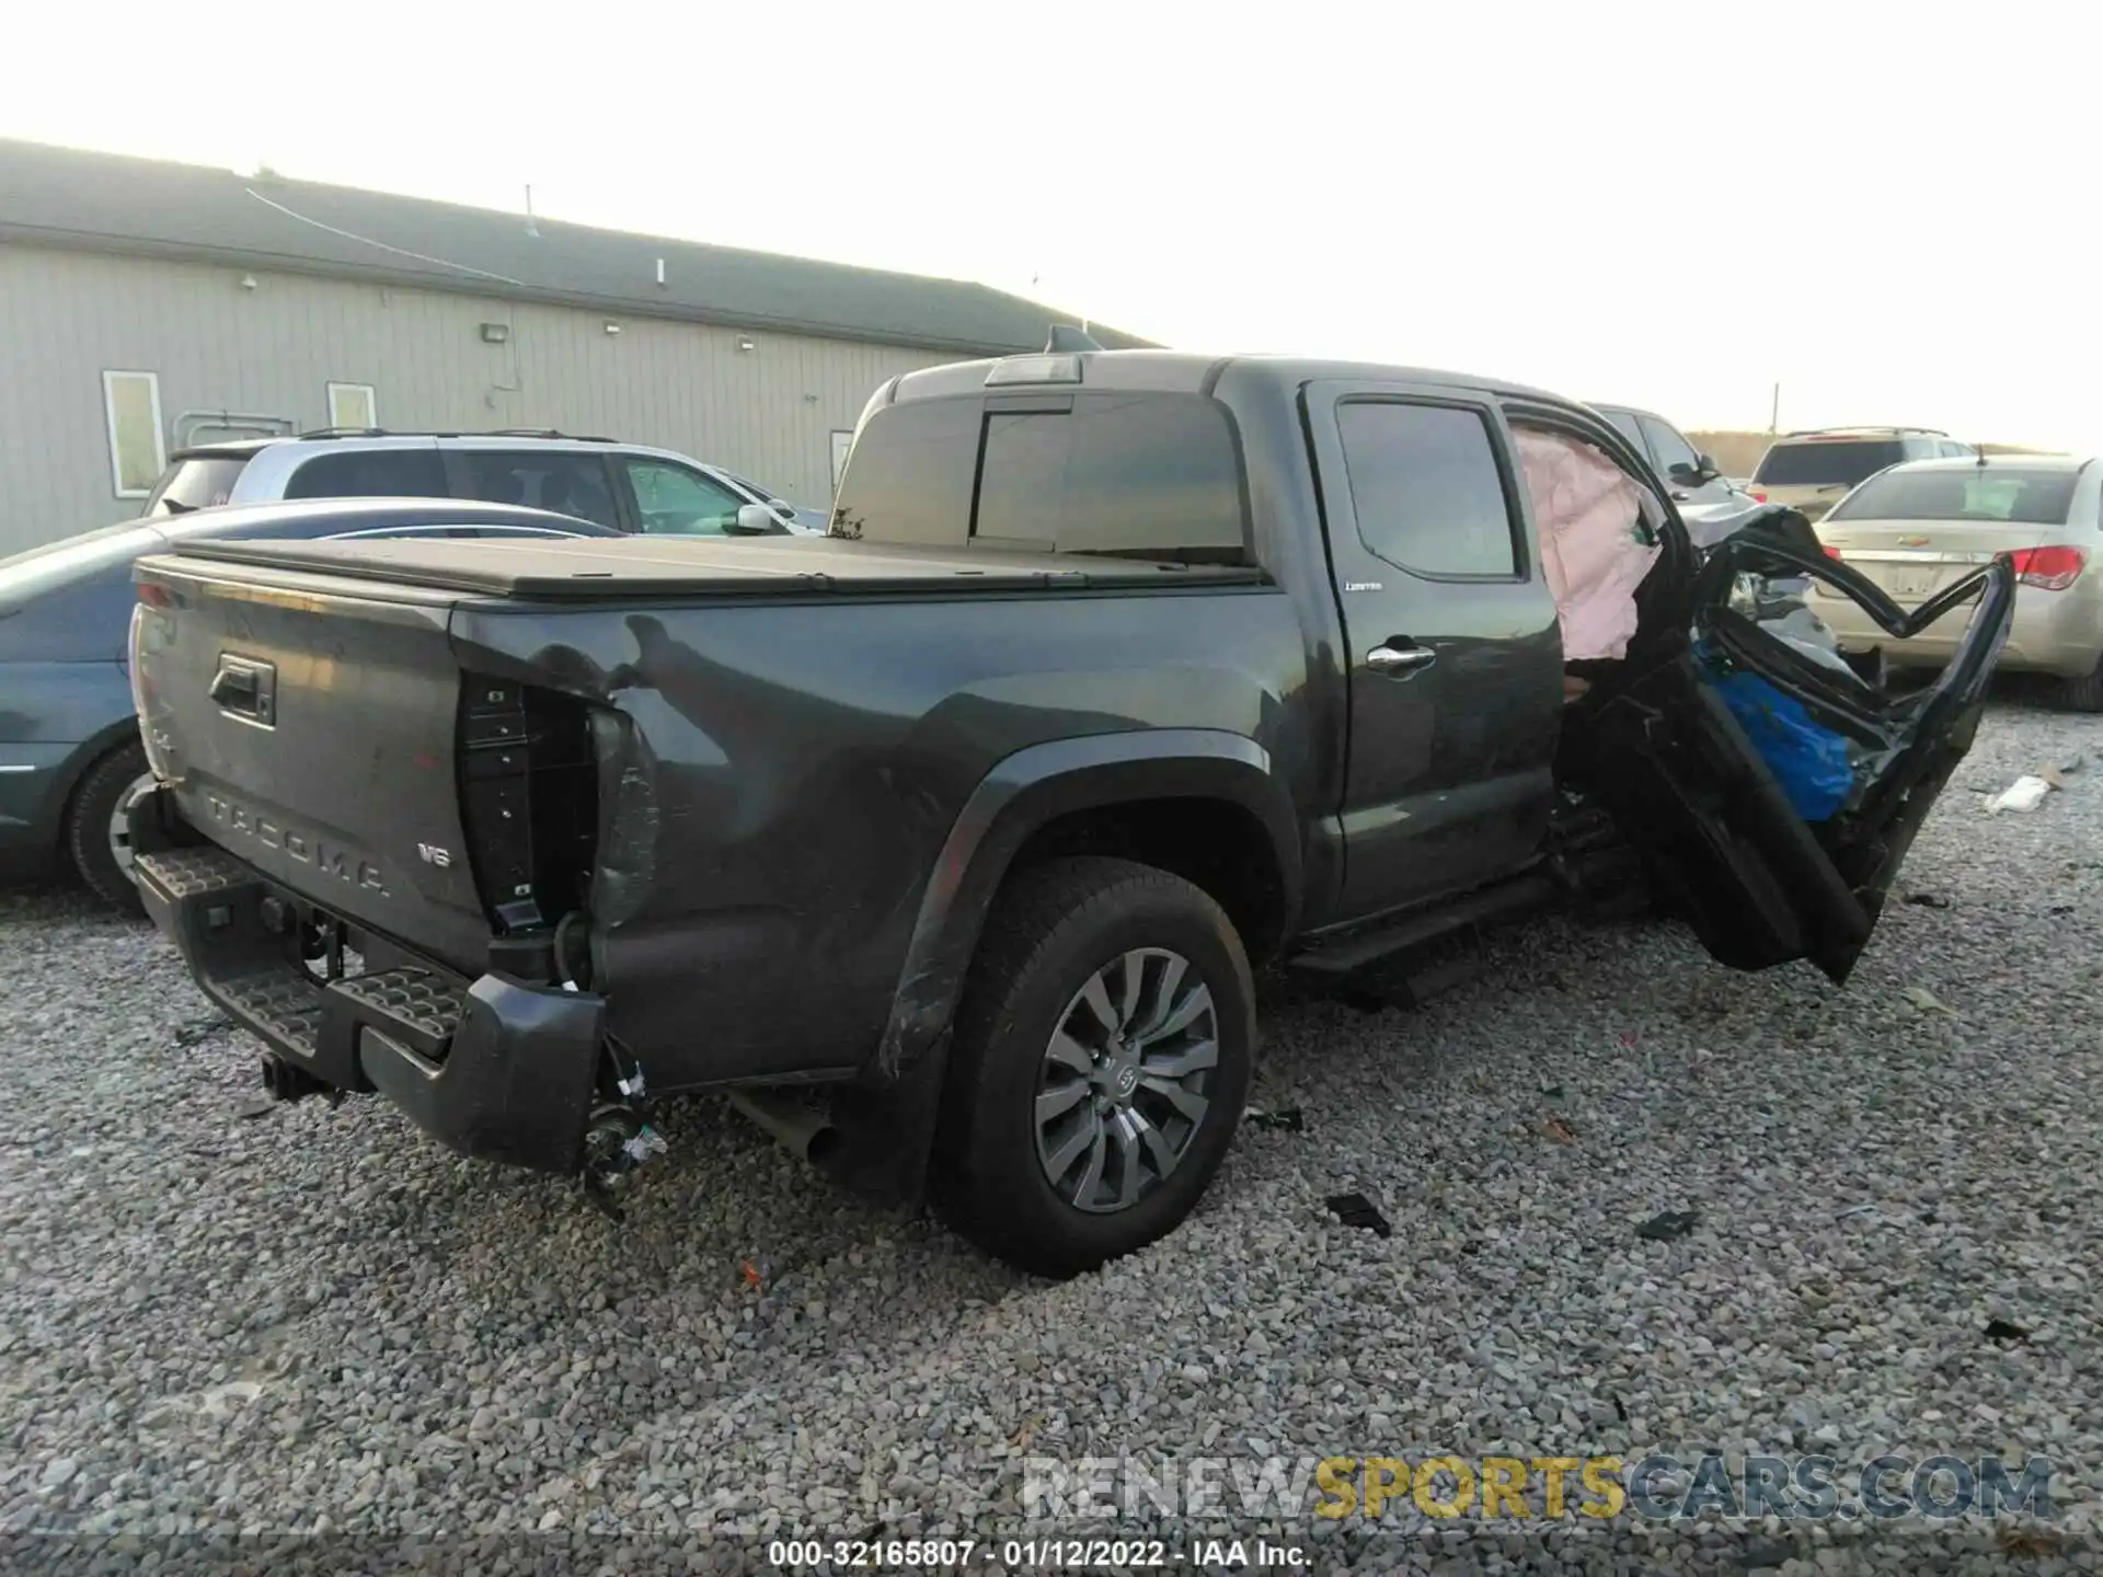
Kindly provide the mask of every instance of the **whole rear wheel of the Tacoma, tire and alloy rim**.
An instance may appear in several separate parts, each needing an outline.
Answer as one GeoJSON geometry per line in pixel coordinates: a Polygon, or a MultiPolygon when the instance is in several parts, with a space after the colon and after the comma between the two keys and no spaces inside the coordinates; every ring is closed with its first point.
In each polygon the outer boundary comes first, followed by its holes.
{"type": "Polygon", "coordinates": [[[1205,892],[1129,860],[1020,873],[957,1009],[936,1209],[1045,1276],[1165,1236],[1232,1144],[1253,1047],[1249,961],[1205,892]]]}

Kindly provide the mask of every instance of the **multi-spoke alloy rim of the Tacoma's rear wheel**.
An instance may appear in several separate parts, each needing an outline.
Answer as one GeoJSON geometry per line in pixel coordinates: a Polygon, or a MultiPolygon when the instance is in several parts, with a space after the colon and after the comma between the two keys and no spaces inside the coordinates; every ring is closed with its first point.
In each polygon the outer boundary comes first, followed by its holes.
{"type": "Polygon", "coordinates": [[[1037,1161],[1062,1201],[1131,1209],[1173,1175],[1211,1110],[1220,1016],[1190,961],[1134,948],[1060,1013],[1037,1070],[1037,1161]]]}

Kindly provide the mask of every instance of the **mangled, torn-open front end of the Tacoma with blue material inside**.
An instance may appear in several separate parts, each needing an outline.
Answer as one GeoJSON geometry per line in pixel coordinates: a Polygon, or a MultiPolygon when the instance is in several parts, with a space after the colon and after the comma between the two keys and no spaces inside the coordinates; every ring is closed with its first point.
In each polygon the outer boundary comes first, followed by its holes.
{"type": "Polygon", "coordinates": [[[1806,538],[1800,515],[1773,509],[1712,547],[1685,622],[1632,648],[1573,704],[1558,776],[1613,814],[1718,961],[1811,959],[1844,982],[1971,749],[2015,572],[1998,559],[1907,612],[1806,538]],[[1886,694],[1806,612],[1811,580],[1901,637],[1977,608],[1935,683],[1886,694]]]}

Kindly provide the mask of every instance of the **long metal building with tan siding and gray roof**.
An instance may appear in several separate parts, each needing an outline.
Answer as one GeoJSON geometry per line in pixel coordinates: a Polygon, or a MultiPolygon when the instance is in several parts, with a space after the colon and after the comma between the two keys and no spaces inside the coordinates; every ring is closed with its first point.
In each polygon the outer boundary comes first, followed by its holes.
{"type": "Polygon", "coordinates": [[[183,444],[322,427],[606,435],[824,507],[877,385],[1054,322],[957,280],[0,141],[0,557],[139,513],[183,444]]]}

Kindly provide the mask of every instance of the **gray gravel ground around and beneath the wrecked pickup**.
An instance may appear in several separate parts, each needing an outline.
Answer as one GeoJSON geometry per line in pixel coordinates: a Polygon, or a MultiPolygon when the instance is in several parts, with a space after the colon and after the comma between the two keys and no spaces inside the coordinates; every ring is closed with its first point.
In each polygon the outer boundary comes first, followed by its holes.
{"type": "MultiPolygon", "coordinates": [[[[669,1112],[622,1226],[376,1102],[252,1114],[257,1047],[168,946],[0,896],[6,1554],[381,1569],[372,1533],[484,1571],[753,1569],[791,1533],[1043,1533],[1028,1457],[1232,1482],[1661,1449],[2046,1455],[2059,1520],[1996,1552],[1981,1522],[1403,1501],[1272,1537],[1316,1569],[2097,1571],[2103,721],[2000,704],[1901,889],[1947,906],[1895,904],[1844,990],[1544,923],[1424,1011],[1281,1001],[1260,1100],[1304,1129],[1247,1129],[1182,1232],[1060,1287],[841,1199],[715,1100],[669,1112]],[[2078,753],[2034,814],[1966,791],[2078,753]],[[1392,1236],[1333,1220],[1346,1190],[1392,1236]],[[1659,1211],[1697,1220],[1638,1236],[1659,1211]],[[334,1533],[210,1543],[242,1531],[334,1533]]],[[[1205,1524],[1255,1518],[1060,1527],[1197,1564],[1205,1524]]]]}

